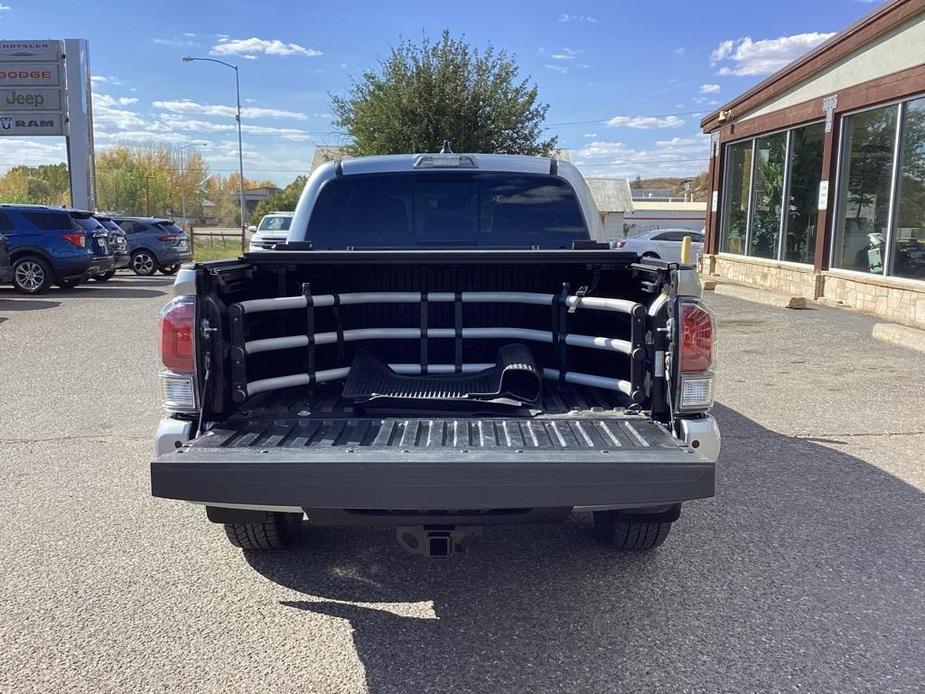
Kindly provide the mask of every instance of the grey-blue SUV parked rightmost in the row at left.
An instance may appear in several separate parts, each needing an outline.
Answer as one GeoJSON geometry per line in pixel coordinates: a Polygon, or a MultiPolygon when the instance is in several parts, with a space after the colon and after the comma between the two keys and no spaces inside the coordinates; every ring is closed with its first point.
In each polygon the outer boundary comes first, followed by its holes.
{"type": "Polygon", "coordinates": [[[189,237],[169,219],[119,215],[112,219],[125,231],[131,257],[129,266],[136,275],[149,276],[158,270],[172,275],[182,263],[193,259],[189,237]]]}

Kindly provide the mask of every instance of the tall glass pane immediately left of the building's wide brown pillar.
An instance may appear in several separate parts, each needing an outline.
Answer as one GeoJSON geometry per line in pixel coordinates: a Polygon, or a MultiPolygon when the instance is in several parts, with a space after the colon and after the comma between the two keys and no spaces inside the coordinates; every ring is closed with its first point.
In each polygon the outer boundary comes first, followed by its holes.
{"type": "Polygon", "coordinates": [[[816,258],[816,218],[822,178],[823,123],[790,131],[790,194],[784,234],[784,260],[812,263],[816,258]]]}

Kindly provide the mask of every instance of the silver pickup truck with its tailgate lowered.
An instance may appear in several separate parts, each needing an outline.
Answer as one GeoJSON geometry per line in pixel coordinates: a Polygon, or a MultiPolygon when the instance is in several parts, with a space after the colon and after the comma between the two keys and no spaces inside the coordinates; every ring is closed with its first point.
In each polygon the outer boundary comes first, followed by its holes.
{"type": "Polygon", "coordinates": [[[286,243],[184,268],[174,293],[152,491],[237,547],[290,546],[307,518],[448,556],[590,512],[644,550],[714,493],[696,273],[612,248],[567,162],[330,162],[286,243]]]}

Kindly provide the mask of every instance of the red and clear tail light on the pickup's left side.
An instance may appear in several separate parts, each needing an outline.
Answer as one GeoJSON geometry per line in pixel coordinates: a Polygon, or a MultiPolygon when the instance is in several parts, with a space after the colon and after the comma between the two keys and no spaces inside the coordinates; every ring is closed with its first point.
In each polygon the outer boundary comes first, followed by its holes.
{"type": "Polygon", "coordinates": [[[161,386],[164,408],[196,411],[196,302],[180,296],[161,311],[161,386]]]}

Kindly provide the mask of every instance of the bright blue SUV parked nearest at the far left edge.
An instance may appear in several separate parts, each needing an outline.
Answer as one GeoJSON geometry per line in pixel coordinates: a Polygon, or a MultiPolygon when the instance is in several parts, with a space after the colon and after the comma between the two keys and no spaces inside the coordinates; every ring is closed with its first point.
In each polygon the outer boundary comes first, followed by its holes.
{"type": "Polygon", "coordinates": [[[112,268],[94,253],[92,232],[59,207],[0,204],[0,234],[9,242],[13,286],[25,294],[73,287],[112,268]]]}

